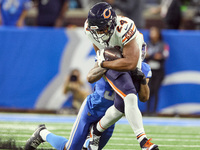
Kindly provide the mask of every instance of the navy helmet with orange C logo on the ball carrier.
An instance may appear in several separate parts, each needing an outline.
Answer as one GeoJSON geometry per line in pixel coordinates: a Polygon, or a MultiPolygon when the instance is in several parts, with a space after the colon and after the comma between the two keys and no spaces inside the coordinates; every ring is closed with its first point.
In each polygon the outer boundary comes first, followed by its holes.
{"type": "Polygon", "coordinates": [[[98,42],[110,40],[116,26],[116,13],[106,2],[95,4],[88,13],[88,29],[98,42]]]}

